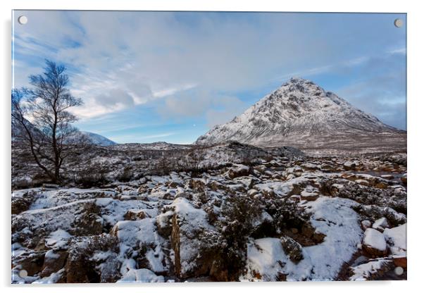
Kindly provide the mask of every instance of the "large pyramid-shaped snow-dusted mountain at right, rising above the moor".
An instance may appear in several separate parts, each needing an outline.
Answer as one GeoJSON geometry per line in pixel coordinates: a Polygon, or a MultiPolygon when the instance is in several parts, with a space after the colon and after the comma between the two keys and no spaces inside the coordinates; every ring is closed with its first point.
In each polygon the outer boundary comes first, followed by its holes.
{"type": "Polygon", "coordinates": [[[257,146],[297,146],[306,151],[380,151],[406,148],[406,132],[385,125],[309,80],[292,78],[197,144],[234,140],[257,146]]]}

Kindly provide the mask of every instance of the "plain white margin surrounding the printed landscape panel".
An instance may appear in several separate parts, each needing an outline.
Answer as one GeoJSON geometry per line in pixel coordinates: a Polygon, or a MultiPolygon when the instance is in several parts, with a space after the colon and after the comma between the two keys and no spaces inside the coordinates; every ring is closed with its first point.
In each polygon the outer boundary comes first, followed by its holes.
{"type": "MultiPolygon", "coordinates": [[[[48,285],[26,286],[34,292],[75,292],[75,290],[88,291],[101,289],[104,292],[139,291],[144,287],[148,292],[216,292],[243,290],[244,292],[258,292],[265,289],[269,291],[296,290],[313,292],[358,292],[375,290],[379,292],[406,292],[420,286],[423,271],[423,188],[419,180],[423,174],[423,148],[422,137],[423,121],[423,37],[424,27],[423,9],[419,1],[332,1],[332,0],[297,0],[297,1],[272,1],[272,0],[3,0],[1,5],[1,89],[4,99],[1,101],[1,199],[3,213],[2,240],[1,240],[1,285],[6,287],[6,292],[22,290],[22,286],[10,285],[10,225],[11,202],[10,182],[11,159],[10,143],[10,99],[11,89],[11,9],[82,9],[82,10],[158,10],[158,11],[311,11],[311,12],[397,12],[408,13],[408,156],[409,156],[409,270],[408,281],[386,282],[292,282],[292,283],[189,283],[166,285],[48,285]]],[[[422,287],[422,286],[420,286],[422,287]]],[[[4,291],[5,292],[5,291],[4,291]]]]}

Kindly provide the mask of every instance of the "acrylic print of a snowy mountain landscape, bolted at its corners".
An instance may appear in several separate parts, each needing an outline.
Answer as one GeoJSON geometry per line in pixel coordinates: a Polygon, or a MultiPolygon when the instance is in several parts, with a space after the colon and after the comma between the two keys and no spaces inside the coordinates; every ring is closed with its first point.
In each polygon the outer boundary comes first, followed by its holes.
{"type": "Polygon", "coordinates": [[[406,280],[406,14],[12,13],[13,283],[406,280]]]}

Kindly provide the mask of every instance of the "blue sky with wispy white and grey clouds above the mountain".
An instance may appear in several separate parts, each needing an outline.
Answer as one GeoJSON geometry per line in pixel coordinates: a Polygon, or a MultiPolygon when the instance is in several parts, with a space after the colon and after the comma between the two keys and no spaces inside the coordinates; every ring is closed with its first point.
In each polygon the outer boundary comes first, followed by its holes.
{"type": "Polygon", "coordinates": [[[15,11],[13,86],[68,68],[77,127],[192,143],[290,77],[406,129],[404,14],[15,11]],[[26,15],[28,23],[17,18],[26,15]]]}

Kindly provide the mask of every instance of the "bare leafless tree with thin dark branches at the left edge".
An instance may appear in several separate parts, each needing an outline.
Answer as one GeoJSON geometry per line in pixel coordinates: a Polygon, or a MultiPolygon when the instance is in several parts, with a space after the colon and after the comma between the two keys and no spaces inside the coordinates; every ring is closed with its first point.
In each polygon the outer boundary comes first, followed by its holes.
{"type": "Polygon", "coordinates": [[[32,157],[52,182],[61,181],[63,161],[85,138],[71,123],[68,110],[82,105],[67,88],[66,67],[46,60],[42,75],[30,75],[31,89],[12,91],[12,127],[15,139],[29,147],[32,157]]]}

